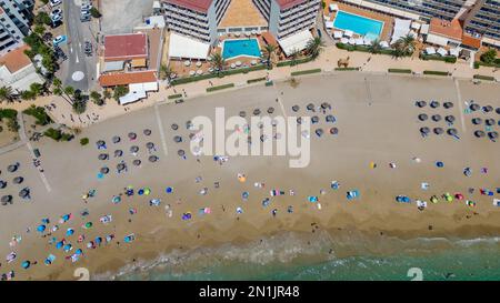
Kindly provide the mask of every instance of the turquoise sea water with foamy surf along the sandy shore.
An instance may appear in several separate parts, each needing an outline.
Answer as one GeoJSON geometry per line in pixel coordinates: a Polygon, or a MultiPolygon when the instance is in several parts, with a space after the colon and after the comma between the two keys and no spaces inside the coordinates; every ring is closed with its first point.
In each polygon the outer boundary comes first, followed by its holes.
{"type": "Polygon", "coordinates": [[[323,236],[302,241],[287,235],[246,246],[222,245],[189,254],[171,254],[143,263],[141,267],[123,270],[114,279],[406,281],[412,279],[408,271],[418,267],[423,280],[500,280],[500,239],[496,238],[379,239],[369,240],[370,243],[360,238],[354,241],[343,238],[341,243],[331,241],[337,240],[323,236]],[[384,253],[374,252],[377,243],[384,248],[384,253]],[[334,255],[336,251],[342,250],[349,251],[350,255],[334,255]]]}

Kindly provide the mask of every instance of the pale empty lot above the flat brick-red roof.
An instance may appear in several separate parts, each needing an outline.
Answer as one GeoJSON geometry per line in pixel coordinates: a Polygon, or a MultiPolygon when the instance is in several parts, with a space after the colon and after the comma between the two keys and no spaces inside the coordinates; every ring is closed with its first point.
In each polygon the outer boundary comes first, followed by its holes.
{"type": "Polygon", "coordinates": [[[100,2],[101,31],[104,34],[132,32],[151,16],[153,0],[106,0],[100,2]]]}

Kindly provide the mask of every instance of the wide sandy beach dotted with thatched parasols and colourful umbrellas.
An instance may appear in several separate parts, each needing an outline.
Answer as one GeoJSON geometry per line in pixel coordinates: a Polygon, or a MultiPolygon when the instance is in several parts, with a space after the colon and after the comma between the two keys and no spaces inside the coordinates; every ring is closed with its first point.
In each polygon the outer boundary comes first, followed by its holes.
{"type": "MultiPolygon", "coordinates": [[[[141,260],[152,260],[172,251],[196,252],[201,248],[218,248],[228,243],[253,243],[263,238],[279,236],[284,232],[298,234],[321,233],[334,239],[342,234],[360,233],[371,239],[398,238],[480,238],[497,236],[500,232],[500,208],[492,204],[500,186],[499,142],[487,138],[476,138],[472,118],[500,118],[494,112],[466,111],[473,100],[480,105],[500,107],[500,85],[494,83],[473,84],[471,81],[433,78],[409,78],[343,73],[332,75],[302,77],[296,84],[277,82],[273,87],[259,84],[207,97],[186,100],[180,104],[159,104],[118,118],[106,120],[82,130],[71,142],[53,142],[43,138],[33,142],[32,148],[41,152],[41,168],[34,168],[28,148],[0,155],[0,180],[8,186],[0,195],[11,194],[13,203],[0,206],[0,273],[11,270],[16,280],[74,280],[77,267],[87,267],[91,277],[107,272],[117,272],[126,265],[141,260]],[[278,99],[278,101],[276,101],[278,99]],[[432,109],[414,105],[416,101],[432,100],[440,107],[432,109]],[[444,102],[453,107],[444,109],[444,102]],[[307,111],[308,103],[319,107],[329,102],[331,110],[307,111]],[[298,112],[292,111],[299,105],[298,112]],[[288,156],[234,156],[219,164],[212,156],[197,158],[189,153],[189,133],[186,121],[197,115],[213,118],[214,109],[223,107],[226,115],[238,115],[246,111],[250,117],[254,109],[262,114],[269,107],[272,115],[318,115],[320,122],[311,125],[311,162],[304,169],[291,169],[288,156]],[[283,112],[284,109],[284,112],[283,112]],[[427,121],[418,115],[426,113],[427,121]],[[336,117],[336,122],[326,122],[327,114],[336,117]],[[439,122],[431,117],[440,114],[439,122]],[[422,138],[419,129],[450,128],[444,117],[453,115],[451,128],[458,131],[453,138],[447,133],[431,133],[422,138]],[[177,123],[179,129],[172,129],[177,123]],[[337,135],[328,133],[336,127],[337,135]],[[313,131],[322,128],[326,132],[318,138],[313,131]],[[151,130],[146,135],[143,130],[151,130]],[[137,133],[133,141],[129,132],[137,133]],[[112,143],[113,135],[121,141],[112,143]],[[174,135],[183,141],[176,143],[174,135]],[[81,147],[79,140],[89,138],[90,143],[81,147]],[[107,150],[98,150],[96,142],[103,140],[107,150]],[[148,151],[146,144],[152,142],[156,150],[148,151]],[[130,153],[132,145],[139,147],[137,155],[130,153]],[[167,150],[164,149],[167,148],[167,150]],[[187,151],[187,159],[178,155],[178,150],[187,151]],[[123,155],[114,158],[114,150],[123,155]],[[109,160],[99,160],[100,153],[108,153],[109,160]],[[157,162],[148,158],[157,155],[157,162]],[[420,160],[416,161],[418,158],[420,160]],[[133,160],[141,160],[136,166],[133,160]],[[127,172],[117,173],[117,164],[124,161],[127,172]],[[441,161],[443,168],[437,168],[441,161]],[[9,173],[7,166],[19,162],[19,170],[9,173]],[[393,163],[396,168],[390,168],[393,163]],[[376,168],[372,168],[377,164],[376,168]],[[98,173],[102,166],[109,173],[102,179],[98,173]],[[470,176],[463,174],[470,168],[470,176]],[[246,175],[246,182],[238,174],[246,175]],[[22,184],[12,184],[11,179],[22,175],[22,184]],[[198,179],[197,179],[198,178],[198,179]],[[334,190],[331,183],[338,181],[334,190]],[[218,182],[219,186],[214,183],[218,182]],[[263,188],[256,188],[262,182],[263,188]],[[423,190],[421,183],[428,183],[423,190]],[[124,188],[133,186],[134,194],[123,194],[124,188]],[[19,198],[18,191],[29,186],[31,199],[19,198]],[[172,193],[166,193],[171,186],[172,193]],[[138,190],[149,188],[149,195],[139,195],[138,190]],[[474,189],[473,193],[469,189],[474,189]],[[200,194],[206,189],[207,194],[200,194]],[[270,190],[283,191],[283,195],[270,196],[270,190]],[[481,194],[480,189],[492,191],[493,196],[481,194]],[[82,199],[89,190],[96,190],[93,198],[82,199]],[[294,195],[290,195],[293,190],[294,195]],[[358,190],[358,199],[348,200],[348,191],[358,190]],[[248,192],[247,201],[242,193],[248,192]],[[463,200],[444,202],[443,193],[461,193],[463,200]],[[120,203],[112,198],[121,194],[120,203]],[[411,203],[398,203],[397,195],[411,198],[411,203]],[[432,195],[439,198],[431,203],[432,195]],[[307,200],[318,196],[317,203],[307,200]],[[270,198],[270,205],[262,206],[262,200],[270,198]],[[150,206],[151,199],[161,199],[159,206],[150,206]],[[420,211],[416,200],[428,202],[420,211]],[[466,204],[476,202],[476,206],[466,204]],[[166,205],[169,204],[171,216],[166,205]],[[288,210],[290,206],[293,212],[288,210]],[[210,213],[199,210],[210,208],[210,213]],[[237,213],[241,208],[242,213],[237,213]],[[130,214],[129,209],[137,213],[130,214]],[[88,215],[80,213],[88,210],[88,215]],[[271,213],[276,210],[276,215],[271,213]],[[191,219],[182,214],[190,212],[191,219]],[[63,214],[72,214],[66,223],[59,223],[63,214]],[[102,215],[112,215],[112,222],[102,224],[102,215]],[[41,220],[50,223],[43,233],[37,232],[41,220]],[[82,229],[92,222],[91,229],[82,229]],[[49,234],[58,224],[59,230],[49,234]],[[67,236],[67,230],[74,234],[67,236]],[[29,232],[28,232],[29,229],[29,232]],[[134,234],[136,240],[124,243],[123,238],[134,234]],[[79,243],[79,235],[84,240],[79,243]],[[109,243],[96,249],[87,249],[87,243],[97,236],[113,234],[109,243]],[[22,240],[10,246],[13,236],[22,240]],[[49,241],[56,238],[56,241],[49,241]],[[54,243],[66,240],[72,250],[57,250],[54,243]],[[77,249],[83,255],[77,262],[64,260],[77,249]],[[4,256],[14,252],[16,261],[8,263],[4,256]],[[51,265],[44,265],[49,255],[56,256],[51,265]],[[22,261],[31,265],[24,270],[22,261]],[[34,262],[37,261],[37,264],[34,262]]],[[[491,127],[494,131],[498,124],[491,127]]],[[[374,241],[377,243],[377,241],[374,241]]],[[[391,253],[392,249],[367,246],[377,253],[391,253]]],[[[336,251],[349,255],[352,252],[336,251]]]]}

